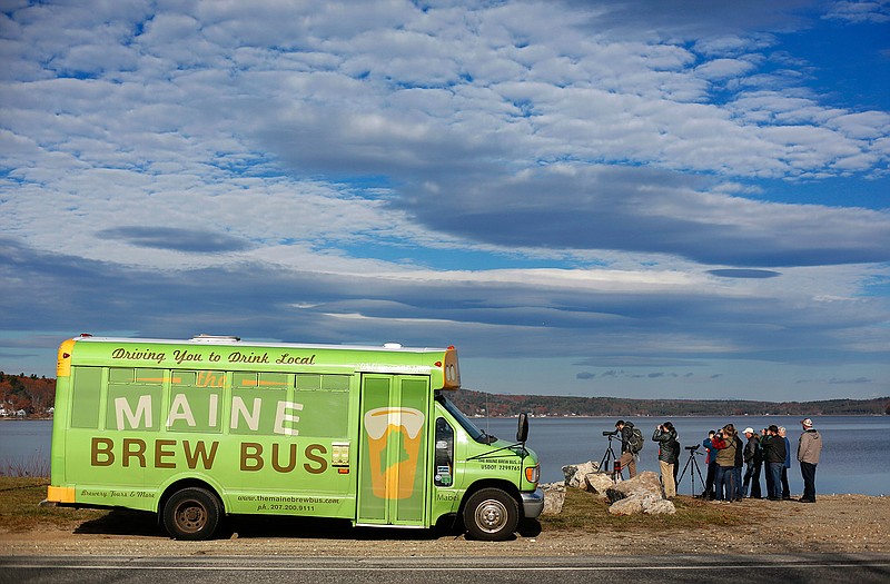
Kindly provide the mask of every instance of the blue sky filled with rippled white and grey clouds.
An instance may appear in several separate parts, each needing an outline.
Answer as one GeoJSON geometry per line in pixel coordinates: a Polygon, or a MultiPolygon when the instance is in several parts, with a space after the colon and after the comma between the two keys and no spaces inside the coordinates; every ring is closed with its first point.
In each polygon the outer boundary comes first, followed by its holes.
{"type": "Polygon", "coordinates": [[[212,334],[890,396],[889,0],[0,0],[0,370],[212,334]]]}

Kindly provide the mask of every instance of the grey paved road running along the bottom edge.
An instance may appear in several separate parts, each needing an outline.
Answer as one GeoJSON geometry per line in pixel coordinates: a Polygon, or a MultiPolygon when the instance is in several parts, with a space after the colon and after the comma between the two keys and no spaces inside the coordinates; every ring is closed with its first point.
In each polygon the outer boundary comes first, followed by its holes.
{"type": "Polygon", "coordinates": [[[541,558],[307,558],[257,556],[0,557],[0,584],[375,582],[447,584],[568,582],[890,582],[890,554],[541,558]],[[558,580],[556,580],[558,578],[558,580]]]}

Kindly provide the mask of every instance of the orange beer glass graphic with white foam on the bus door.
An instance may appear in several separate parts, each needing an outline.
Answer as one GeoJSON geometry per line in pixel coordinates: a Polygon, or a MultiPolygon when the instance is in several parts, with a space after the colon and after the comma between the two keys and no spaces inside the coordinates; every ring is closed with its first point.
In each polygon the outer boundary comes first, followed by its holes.
{"type": "MultiPolygon", "coordinates": [[[[368,436],[370,456],[370,481],[374,496],[380,498],[408,498],[414,492],[414,475],[421,454],[421,429],[424,427],[422,412],[411,407],[378,407],[365,414],[365,433],[368,436]],[[392,454],[387,451],[390,438],[402,437],[404,452],[398,461],[387,464],[392,454]]],[[[394,442],[393,445],[396,443],[394,442]]],[[[395,446],[394,446],[395,447],[395,446]]]]}

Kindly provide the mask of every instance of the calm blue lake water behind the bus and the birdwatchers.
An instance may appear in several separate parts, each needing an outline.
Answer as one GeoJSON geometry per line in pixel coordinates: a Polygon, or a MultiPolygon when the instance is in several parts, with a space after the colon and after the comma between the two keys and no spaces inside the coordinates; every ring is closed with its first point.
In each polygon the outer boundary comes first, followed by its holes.
{"type": "MultiPolygon", "coordinates": [[[[650,438],[661,418],[626,418],[633,422],[646,438],[640,454],[637,471],[657,472],[657,446],[650,438]]],[[[474,419],[477,426],[504,439],[516,435],[516,419],[474,419]]],[[[611,432],[615,418],[533,418],[528,433],[528,446],[541,458],[542,482],[563,481],[562,466],[566,464],[600,462],[609,446],[603,432],[611,432]]],[[[761,429],[775,424],[785,426],[792,452],[797,452],[800,436],[800,416],[740,416],[736,418],[688,417],[672,418],[683,446],[701,444],[709,429],[732,423],[741,430],[746,426],[761,429]]],[[[824,446],[815,478],[817,493],[859,493],[863,495],[890,495],[890,417],[888,416],[823,416],[814,417],[815,428],[822,435],[824,446]]],[[[49,468],[51,420],[0,422],[0,473],[9,468],[49,468]]],[[[621,454],[621,444],[613,442],[615,454],[621,454]]],[[[699,448],[702,452],[703,448],[699,448]]],[[[680,468],[689,459],[683,451],[680,468]]],[[[702,475],[705,474],[704,456],[696,456],[702,475]]],[[[691,472],[686,472],[678,491],[690,494],[691,472]]],[[[762,477],[761,477],[762,478],[762,477]]],[[[797,461],[789,472],[792,495],[803,489],[797,461]]],[[[701,491],[695,477],[695,488],[701,491]]]]}

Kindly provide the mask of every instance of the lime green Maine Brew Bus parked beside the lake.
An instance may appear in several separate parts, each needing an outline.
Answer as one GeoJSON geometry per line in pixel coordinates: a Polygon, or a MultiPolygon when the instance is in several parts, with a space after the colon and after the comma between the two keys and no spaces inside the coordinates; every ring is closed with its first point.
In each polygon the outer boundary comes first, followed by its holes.
{"type": "Polygon", "coordinates": [[[154,512],[179,540],[227,515],[334,517],[511,537],[544,497],[536,454],[448,398],[457,352],[188,340],[59,347],[47,504],[154,512]]]}

